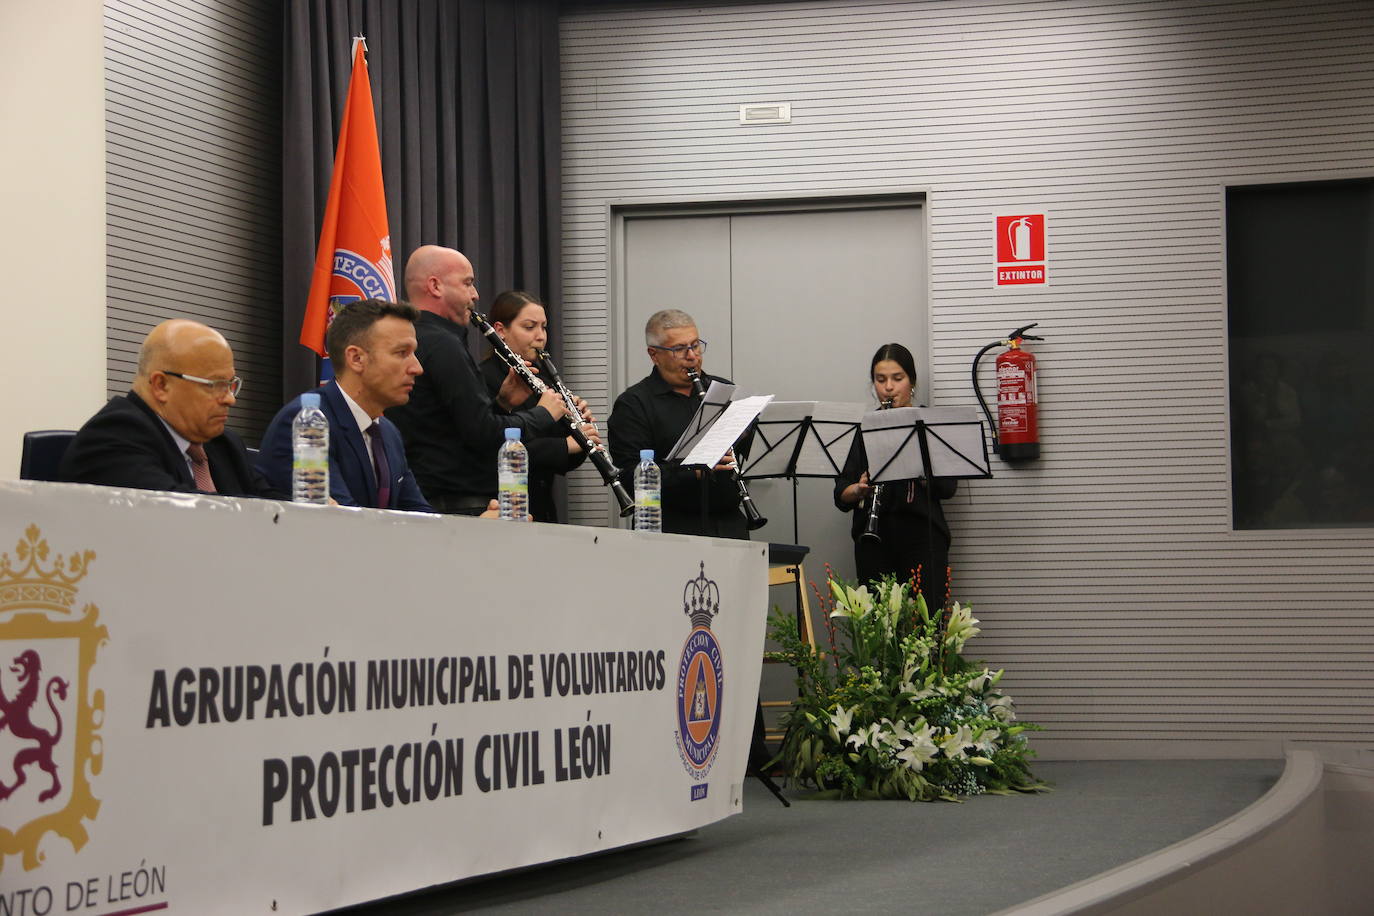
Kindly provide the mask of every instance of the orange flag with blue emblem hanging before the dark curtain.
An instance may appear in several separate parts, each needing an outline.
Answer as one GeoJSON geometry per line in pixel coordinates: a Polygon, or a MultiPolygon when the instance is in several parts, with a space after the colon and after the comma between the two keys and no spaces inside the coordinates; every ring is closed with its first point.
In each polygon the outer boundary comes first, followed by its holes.
{"type": "Polygon", "coordinates": [[[354,40],[353,76],[344,102],[330,199],[324,205],[311,298],[301,324],[301,345],[320,356],[326,354],[324,331],[341,305],[356,299],[396,301],[382,154],[363,51],[363,41],[354,40]]]}

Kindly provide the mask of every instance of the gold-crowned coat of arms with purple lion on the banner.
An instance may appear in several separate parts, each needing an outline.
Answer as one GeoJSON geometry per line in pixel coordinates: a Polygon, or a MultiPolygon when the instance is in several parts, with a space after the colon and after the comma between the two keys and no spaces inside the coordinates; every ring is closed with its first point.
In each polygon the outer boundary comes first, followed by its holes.
{"type": "Polygon", "coordinates": [[[104,692],[91,673],[109,633],[95,604],[76,611],[95,551],[51,553],[41,536],[30,525],[14,556],[0,553],[0,872],[10,856],[41,865],[48,832],[80,850],[100,810],[89,779],[103,764],[104,692]]]}

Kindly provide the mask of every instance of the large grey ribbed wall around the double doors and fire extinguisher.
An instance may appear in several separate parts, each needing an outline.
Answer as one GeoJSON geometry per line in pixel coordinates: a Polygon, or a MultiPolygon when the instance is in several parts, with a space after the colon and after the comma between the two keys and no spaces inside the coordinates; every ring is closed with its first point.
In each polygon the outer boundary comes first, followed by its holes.
{"type": "MultiPolygon", "coordinates": [[[[1228,184],[1374,174],[1374,7],[584,4],[562,51],[565,364],[598,413],[613,203],[926,190],[934,401],[973,404],[982,343],[1048,338],[1044,457],[949,511],[976,651],[1041,753],[1374,740],[1374,537],[1231,530],[1223,244],[1228,184]],[[791,124],[738,124],[769,102],[791,124]],[[1022,209],[1050,286],[998,290],[991,220],[1022,209]]],[[[600,523],[598,482],[570,492],[600,523]]]]}

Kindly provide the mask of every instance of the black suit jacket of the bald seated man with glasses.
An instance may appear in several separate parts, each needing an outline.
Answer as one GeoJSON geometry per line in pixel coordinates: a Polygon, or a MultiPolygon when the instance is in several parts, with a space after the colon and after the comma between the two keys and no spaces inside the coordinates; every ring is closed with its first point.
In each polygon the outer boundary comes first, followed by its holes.
{"type": "MultiPolygon", "coordinates": [[[[238,435],[225,430],[205,444],[210,477],[224,496],[268,496],[267,482],[249,466],[238,435]]],[[[113,397],[71,441],[63,481],[195,493],[195,478],[162,420],[133,391],[113,397]]]]}

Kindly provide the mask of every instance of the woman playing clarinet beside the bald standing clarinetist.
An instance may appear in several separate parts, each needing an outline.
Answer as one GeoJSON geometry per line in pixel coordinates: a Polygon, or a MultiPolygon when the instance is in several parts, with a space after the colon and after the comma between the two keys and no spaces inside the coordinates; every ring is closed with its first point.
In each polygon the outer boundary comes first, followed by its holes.
{"type": "MultiPolygon", "coordinates": [[[[507,345],[521,356],[540,368],[539,353],[548,342],[548,314],[544,305],[529,293],[508,290],[496,297],[488,316],[492,327],[506,341],[507,345]]],[[[541,369],[543,371],[543,369],[541,369]]],[[[486,389],[496,398],[502,382],[506,380],[507,367],[495,356],[488,356],[482,363],[482,379],[486,389]]],[[[545,383],[552,379],[541,376],[545,383]]],[[[526,404],[515,409],[529,408],[539,401],[537,394],[530,394],[526,404]]],[[[578,398],[580,401],[580,398],[578,398]]],[[[585,408],[584,408],[585,411],[585,408]]],[[[583,413],[589,417],[588,413],[583,413]]],[[[585,426],[583,431],[594,442],[600,442],[600,434],[595,426],[585,426]]],[[[554,482],[559,474],[567,474],[587,460],[587,453],[570,435],[550,435],[525,442],[529,449],[529,514],[536,522],[558,522],[558,507],[554,503],[554,482]]],[[[496,456],[492,456],[496,460],[496,456]]]]}

